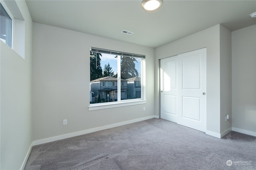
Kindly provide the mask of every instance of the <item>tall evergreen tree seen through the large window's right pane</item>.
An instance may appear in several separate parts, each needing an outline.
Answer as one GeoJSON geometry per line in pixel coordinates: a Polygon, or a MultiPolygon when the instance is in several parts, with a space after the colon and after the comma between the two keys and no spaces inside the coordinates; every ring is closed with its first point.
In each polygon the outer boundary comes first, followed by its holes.
{"type": "Polygon", "coordinates": [[[135,68],[135,63],[138,63],[134,57],[121,56],[121,78],[129,79],[138,76],[138,71],[135,68]]]}

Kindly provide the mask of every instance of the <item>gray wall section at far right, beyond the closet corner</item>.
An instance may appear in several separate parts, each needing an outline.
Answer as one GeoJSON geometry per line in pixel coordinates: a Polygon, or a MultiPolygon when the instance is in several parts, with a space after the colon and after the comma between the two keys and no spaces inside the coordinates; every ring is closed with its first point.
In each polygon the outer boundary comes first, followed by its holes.
{"type": "Polygon", "coordinates": [[[232,127],[256,135],[256,25],[232,32],[232,127]]]}

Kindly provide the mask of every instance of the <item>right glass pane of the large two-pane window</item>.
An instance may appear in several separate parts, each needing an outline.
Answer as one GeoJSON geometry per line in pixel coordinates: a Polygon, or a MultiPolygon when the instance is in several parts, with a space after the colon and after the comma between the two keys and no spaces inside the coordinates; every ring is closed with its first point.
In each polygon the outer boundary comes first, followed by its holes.
{"type": "Polygon", "coordinates": [[[141,98],[141,58],[121,56],[121,100],[141,98]]]}

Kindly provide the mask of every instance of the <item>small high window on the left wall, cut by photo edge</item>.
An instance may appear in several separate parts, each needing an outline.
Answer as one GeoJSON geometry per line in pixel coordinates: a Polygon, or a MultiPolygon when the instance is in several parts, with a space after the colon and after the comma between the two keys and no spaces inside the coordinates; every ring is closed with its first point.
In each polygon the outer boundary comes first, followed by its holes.
{"type": "Polygon", "coordinates": [[[1,18],[0,18],[0,39],[12,47],[12,19],[1,5],[1,18]]]}

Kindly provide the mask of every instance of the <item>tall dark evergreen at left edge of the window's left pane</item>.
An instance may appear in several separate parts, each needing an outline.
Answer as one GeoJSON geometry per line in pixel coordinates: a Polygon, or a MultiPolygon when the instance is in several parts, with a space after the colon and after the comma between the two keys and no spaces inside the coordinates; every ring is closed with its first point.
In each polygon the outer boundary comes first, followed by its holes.
{"type": "Polygon", "coordinates": [[[101,56],[101,53],[90,52],[90,81],[102,77],[101,56]]]}

